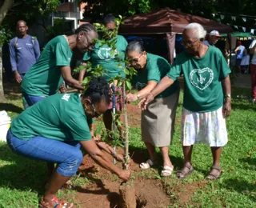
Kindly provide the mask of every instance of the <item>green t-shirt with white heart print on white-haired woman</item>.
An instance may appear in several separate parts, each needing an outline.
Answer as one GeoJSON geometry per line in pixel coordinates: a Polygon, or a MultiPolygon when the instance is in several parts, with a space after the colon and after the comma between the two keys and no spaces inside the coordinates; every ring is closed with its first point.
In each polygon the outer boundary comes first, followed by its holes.
{"type": "Polygon", "coordinates": [[[222,79],[230,74],[222,52],[209,46],[202,58],[194,58],[183,51],[176,58],[167,76],[176,80],[184,74],[184,101],[186,110],[193,112],[210,112],[223,105],[222,79]]]}

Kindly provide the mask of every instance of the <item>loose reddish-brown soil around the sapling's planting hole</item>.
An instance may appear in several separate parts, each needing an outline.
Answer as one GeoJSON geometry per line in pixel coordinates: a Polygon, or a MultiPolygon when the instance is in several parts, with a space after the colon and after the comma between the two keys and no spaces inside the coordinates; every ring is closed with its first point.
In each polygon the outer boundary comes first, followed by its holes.
{"type": "MultiPolygon", "coordinates": [[[[121,150],[118,150],[120,152],[121,150]]],[[[132,153],[131,153],[132,154],[132,153]]],[[[138,168],[139,158],[142,160],[142,155],[134,153],[130,162],[130,170],[140,171],[138,168]],[[134,160],[133,160],[134,158],[134,160]]],[[[113,159],[110,154],[106,157],[113,159]]],[[[121,163],[117,164],[122,166],[121,163]]],[[[76,201],[80,207],[106,207],[106,208],[158,208],[166,207],[171,204],[170,198],[166,194],[159,179],[145,179],[142,177],[134,178],[132,187],[128,186],[128,190],[120,186],[121,180],[115,178],[109,171],[94,163],[94,161],[86,155],[80,166],[80,173],[90,178],[90,185],[77,187],[76,201]],[[102,179],[104,178],[104,179],[102,179]],[[130,197],[134,196],[135,197],[130,197]],[[123,206],[123,198],[132,206],[123,206]],[[136,202],[136,206],[134,206],[136,202]]]]}

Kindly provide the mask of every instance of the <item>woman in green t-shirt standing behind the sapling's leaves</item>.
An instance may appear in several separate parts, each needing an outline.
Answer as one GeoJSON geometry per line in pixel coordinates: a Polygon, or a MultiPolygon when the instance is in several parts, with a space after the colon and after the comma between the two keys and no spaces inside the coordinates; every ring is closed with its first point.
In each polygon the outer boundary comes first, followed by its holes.
{"type": "MultiPolygon", "coordinates": [[[[114,30],[116,27],[115,18],[112,14],[107,14],[106,17],[103,20],[104,26],[106,26],[109,30],[114,30]]],[[[101,36],[101,34],[99,34],[101,36]]],[[[100,37],[99,37],[100,38],[100,37]]],[[[114,38],[111,39],[111,41],[114,38]]],[[[125,59],[125,51],[126,51],[126,38],[124,38],[122,35],[117,35],[115,37],[116,39],[116,50],[115,53],[111,53],[110,46],[103,45],[99,46],[98,43],[95,44],[94,49],[87,53],[87,57],[84,56],[84,61],[92,62],[92,66],[95,67],[97,65],[101,65],[104,69],[104,75],[103,77],[106,79],[106,82],[109,82],[110,85],[114,84],[116,86],[117,81],[113,79],[115,77],[122,77],[125,78],[126,74],[124,73],[124,70],[119,67],[120,60],[123,61],[125,59]]],[[[122,63],[124,66],[124,64],[122,63]]],[[[84,78],[84,75],[86,73],[86,69],[82,70],[82,72],[79,75],[79,81],[82,81],[84,78]]],[[[118,91],[118,94],[116,95],[116,106],[115,109],[118,112],[122,111],[122,87],[115,87],[115,91],[118,91]]],[[[106,113],[103,114],[103,122],[106,126],[107,130],[112,130],[112,109],[113,105],[112,102],[110,103],[109,110],[106,110],[106,113]]],[[[122,117],[121,117],[122,119],[122,117]]],[[[122,130],[120,130],[121,133],[122,130]]]]}

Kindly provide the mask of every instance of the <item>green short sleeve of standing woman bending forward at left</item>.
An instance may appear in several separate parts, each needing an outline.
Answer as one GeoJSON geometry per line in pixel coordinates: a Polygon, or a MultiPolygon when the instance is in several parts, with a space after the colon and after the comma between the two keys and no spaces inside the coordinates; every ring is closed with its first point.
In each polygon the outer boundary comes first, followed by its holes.
{"type": "Polygon", "coordinates": [[[62,42],[58,42],[55,48],[56,66],[70,66],[69,52],[62,42]]]}

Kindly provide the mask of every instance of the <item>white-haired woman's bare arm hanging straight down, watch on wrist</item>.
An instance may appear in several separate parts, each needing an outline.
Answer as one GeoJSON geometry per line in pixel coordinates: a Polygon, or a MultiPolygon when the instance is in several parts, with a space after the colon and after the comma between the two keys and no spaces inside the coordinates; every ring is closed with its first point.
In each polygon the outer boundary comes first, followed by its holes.
{"type": "MultiPolygon", "coordinates": [[[[230,75],[227,75],[226,78],[223,78],[222,88],[223,88],[223,93],[225,95],[231,94],[230,75]]],[[[229,117],[231,114],[231,98],[229,98],[228,96],[225,96],[222,113],[223,113],[224,118],[229,117]]]]}

